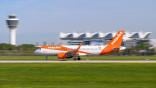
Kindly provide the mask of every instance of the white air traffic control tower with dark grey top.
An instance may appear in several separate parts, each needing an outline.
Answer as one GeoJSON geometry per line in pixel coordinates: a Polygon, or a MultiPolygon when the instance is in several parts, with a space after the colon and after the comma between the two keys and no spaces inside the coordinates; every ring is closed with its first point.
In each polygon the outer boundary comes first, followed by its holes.
{"type": "Polygon", "coordinates": [[[16,15],[9,15],[8,19],[6,20],[7,26],[10,31],[10,39],[9,42],[11,45],[16,45],[16,30],[18,25],[19,19],[16,15]]]}

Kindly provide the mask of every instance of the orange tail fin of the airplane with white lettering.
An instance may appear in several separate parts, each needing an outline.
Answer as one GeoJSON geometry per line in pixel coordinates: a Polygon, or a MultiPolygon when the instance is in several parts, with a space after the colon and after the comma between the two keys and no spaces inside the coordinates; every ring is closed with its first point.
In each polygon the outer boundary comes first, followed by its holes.
{"type": "Polygon", "coordinates": [[[122,44],[124,34],[125,34],[124,30],[119,30],[116,33],[115,37],[113,37],[113,39],[106,44],[106,47],[104,47],[104,49],[101,51],[100,54],[101,55],[108,54],[108,53],[113,52],[114,50],[115,51],[119,50],[122,44]]]}

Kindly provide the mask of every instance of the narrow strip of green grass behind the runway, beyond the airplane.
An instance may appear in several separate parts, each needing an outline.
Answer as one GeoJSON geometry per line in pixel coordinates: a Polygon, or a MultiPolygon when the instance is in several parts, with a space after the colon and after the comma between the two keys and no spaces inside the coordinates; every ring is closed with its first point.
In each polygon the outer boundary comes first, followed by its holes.
{"type": "MultiPolygon", "coordinates": [[[[83,60],[156,60],[156,56],[81,56],[83,60]]],[[[57,60],[49,56],[49,60],[57,60]]],[[[0,60],[45,60],[45,56],[0,56],[0,60]]]]}

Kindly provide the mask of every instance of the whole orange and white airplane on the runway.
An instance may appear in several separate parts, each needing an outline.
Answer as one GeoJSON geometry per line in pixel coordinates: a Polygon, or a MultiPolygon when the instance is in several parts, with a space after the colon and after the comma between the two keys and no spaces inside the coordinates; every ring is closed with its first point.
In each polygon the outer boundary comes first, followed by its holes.
{"type": "Polygon", "coordinates": [[[124,50],[121,47],[124,30],[119,30],[116,35],[106,45],[43,45],[35,50],[35,54],[40,55],[57,55],[59,60],[66,58],[80,59],[80,55],[105,55],[112,52],[124,50]]]}

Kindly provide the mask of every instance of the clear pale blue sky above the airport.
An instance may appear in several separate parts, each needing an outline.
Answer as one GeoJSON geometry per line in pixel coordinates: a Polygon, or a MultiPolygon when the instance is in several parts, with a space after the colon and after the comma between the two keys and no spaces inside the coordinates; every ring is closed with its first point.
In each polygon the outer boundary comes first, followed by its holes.
{"type": "Polygon", "coordinates": [[[156,0],[1,0],[0,43],[9,42],[5,20],[20,19],[17,44],[59,43],[60,32],[152,32],[156,0]]]}

